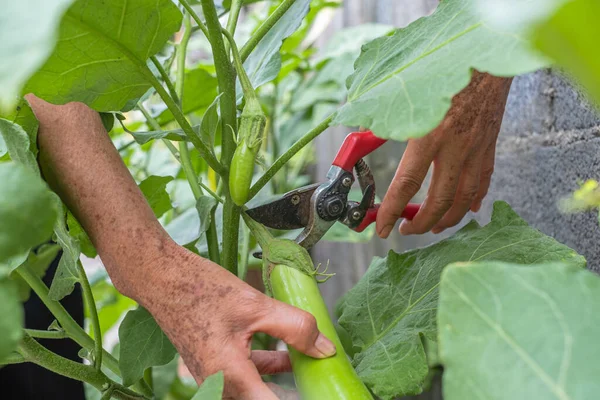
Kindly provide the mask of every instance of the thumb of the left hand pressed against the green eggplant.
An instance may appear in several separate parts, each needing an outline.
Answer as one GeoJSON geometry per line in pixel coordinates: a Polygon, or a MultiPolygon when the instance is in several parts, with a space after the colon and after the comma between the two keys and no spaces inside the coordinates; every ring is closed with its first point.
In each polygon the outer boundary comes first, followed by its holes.
{"type": "Polygon", "coordinates": [[[254,326],[255,332],[263,332],[279,338],[294,349],[314,358],[326,358],[335,354],[335,344],[319,332],[315,317],[299,308],[281,301],[269,299],[269,310],[254,326]]]}

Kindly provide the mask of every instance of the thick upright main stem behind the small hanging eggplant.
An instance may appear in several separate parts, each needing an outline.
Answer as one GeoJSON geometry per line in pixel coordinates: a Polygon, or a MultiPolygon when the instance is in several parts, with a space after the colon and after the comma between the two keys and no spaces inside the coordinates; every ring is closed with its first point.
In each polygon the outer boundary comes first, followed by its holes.
{"type": "MultiPolygon", "coordinates": [[[[186,0],[180,1],[182,1],[182,4],[187,3],[186,0]]],[[[235,70],[225,51],[223,35],[221,34],[222,26],[219,22],[213,0],[202,0],[202,10],[204,11],[204,17],[206,18],[206,26],[209,34],[208,38],[215,60],[219,90],[223,93],[220,100],[222,132],[228,132],[229,129],[233,129],[234,132],[237,132],[235,70]]],[[[227,169],[229,169],[229,165],[231,164],[235,148],[236,144],[233,135],[223,134],[221,163],[227,169]]],[[[221,265],[237,275],[240,208],[231,201],[229,195],[229,173],[220,175],[224,181],[223,188],[225,192],[225,204],[223,205],[223,254],[221,257],[221,265]]]]}

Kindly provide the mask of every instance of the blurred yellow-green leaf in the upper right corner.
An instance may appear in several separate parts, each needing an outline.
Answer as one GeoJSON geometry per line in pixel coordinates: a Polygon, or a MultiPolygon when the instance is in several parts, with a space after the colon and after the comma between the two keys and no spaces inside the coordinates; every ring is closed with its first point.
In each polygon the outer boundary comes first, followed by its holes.
{"type": "Polygon", "coordinates": [[[534,33],[536,46],[572,73],[600,105],[600,3],[567,2],[534,33]]]}

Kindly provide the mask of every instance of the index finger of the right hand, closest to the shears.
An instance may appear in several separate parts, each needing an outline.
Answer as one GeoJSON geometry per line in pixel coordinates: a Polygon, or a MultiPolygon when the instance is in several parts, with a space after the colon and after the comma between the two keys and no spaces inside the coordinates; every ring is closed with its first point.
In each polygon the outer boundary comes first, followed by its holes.
{"type": "Polygon", "coordinates": [[[435,154],[431,140],[410,140],[377,212],[377,234],[387,238],[402,211],[421,188],[435,154]]]}

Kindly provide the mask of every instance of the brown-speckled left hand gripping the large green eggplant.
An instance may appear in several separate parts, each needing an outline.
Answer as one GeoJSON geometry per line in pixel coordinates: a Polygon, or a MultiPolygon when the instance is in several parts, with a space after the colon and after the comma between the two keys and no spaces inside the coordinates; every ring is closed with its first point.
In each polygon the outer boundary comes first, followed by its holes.
{"type": "MultiPolygon", "coordinates": [[[[160,254],[132,296],[155,317],[198,383],[224,372],[224,398],[278,398],[261,375],[289,372],[290,359],[287,352],[250,351],[256,332],[311,357],[335,354],[311,314],[265,296],[183,247],[168,244],[160,254]]],[[[291,398],[281,389],[275,392],[291,398]]]]}

